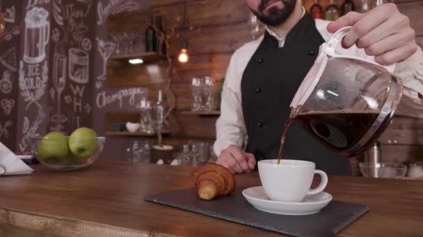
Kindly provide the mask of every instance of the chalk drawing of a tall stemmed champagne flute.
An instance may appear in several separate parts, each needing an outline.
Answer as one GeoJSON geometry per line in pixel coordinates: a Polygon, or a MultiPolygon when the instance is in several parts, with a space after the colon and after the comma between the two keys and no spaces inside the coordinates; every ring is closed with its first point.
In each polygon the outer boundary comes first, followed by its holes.
{"type": "Polygon", "coordinates": [[[65,55],[54,55],[53,85],[57,93],[57,112],[51,116],[53,123],[65,123],[67,117],[61,113],[61,95],[66,87],[66,60],[65,55]]]}

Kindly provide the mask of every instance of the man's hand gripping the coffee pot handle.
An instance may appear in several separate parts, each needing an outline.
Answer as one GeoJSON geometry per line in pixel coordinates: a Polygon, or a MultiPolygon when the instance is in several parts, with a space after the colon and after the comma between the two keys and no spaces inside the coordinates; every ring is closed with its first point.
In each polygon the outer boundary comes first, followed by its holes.
{"type": "Polygon", "coordinates": [[[367,55],[375,56],[376,62],[390,65],[406,60],[417,51],[415,31],[410,19],[399,12],[394,3],[385,3],[369,12],[349,12],[328,25],[335,33],[342,27],[352,26],[342,41],[348,49],[356,44],[367,55]]]}

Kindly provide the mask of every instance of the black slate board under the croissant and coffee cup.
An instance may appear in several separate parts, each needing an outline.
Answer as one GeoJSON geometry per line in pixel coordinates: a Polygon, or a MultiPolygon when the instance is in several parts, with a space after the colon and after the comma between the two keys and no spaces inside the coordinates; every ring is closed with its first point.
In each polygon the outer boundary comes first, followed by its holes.
{"type": "Polygon", "coordinates": [[[312,215],[277,215],[255,209],[243,190],[239,187],[232,195],[213,201],[200,200],[195,188],[147,195],[145,200],[291,236],[333,236],[369,210],[365,205],[333,200],[312,215]]]}

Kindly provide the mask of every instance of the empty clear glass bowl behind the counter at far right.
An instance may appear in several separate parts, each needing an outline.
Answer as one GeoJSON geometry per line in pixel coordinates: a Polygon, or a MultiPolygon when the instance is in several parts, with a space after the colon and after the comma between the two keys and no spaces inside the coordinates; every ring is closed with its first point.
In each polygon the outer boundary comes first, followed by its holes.
{"type": "Polygon", "coordinates": [[[407,166],[401,164],[361,162],[359,166],[364,177],[400,178],[405,177],[407,173],[407,166]]]}

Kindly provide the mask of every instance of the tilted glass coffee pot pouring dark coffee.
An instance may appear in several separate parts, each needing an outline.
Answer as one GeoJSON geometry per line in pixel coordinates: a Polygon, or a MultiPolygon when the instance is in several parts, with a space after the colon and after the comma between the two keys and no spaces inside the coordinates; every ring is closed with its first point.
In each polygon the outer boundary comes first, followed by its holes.
{"type": "Polygon", "coordinates": [[[360,155],[378,139],[403,89],[401,79],[392,75],[395,65],[385,67],[335,51],[350,28],[338,30],[322,44],[292,100],[290,116],[314,139],[346,157],[360,155]]]}

